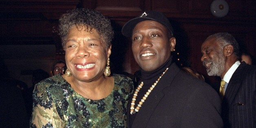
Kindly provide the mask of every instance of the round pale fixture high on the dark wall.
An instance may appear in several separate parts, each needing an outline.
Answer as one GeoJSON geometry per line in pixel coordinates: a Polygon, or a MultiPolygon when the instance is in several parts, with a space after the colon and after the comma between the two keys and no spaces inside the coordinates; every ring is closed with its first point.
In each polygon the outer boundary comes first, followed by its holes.
{"type": "Polygon", "coordinates": [[[214,0],[211,4],[212,15],[222,18],[227,15],[229,7],[225,0],[214,0]]]}

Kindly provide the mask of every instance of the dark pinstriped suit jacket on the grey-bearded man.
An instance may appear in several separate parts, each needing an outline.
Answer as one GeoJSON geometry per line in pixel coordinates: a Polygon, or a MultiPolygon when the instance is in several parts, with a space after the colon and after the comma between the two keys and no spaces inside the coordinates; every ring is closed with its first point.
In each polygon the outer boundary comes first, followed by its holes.
{"type": "Polygon", "coordinates": [[[256,128],[256,66],[242,62],[227,85],[222,103],[225,127],[256,128]]]}

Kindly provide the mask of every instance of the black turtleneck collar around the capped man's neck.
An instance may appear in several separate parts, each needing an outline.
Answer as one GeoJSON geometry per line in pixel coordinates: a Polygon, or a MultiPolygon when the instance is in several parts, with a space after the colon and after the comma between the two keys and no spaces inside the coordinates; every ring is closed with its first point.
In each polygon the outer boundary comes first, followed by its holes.
{"type": "Polygon", "coordinates": [[[143,71],[141,68],[141,81],[143,81],[144,86],[151,86],[152,83],[154,83],[160,75],[162,75],[163,71],[166,70],[170,65],[172,64],[172,55],[171,57],[159,68],[157,68],[155,71],[146,72],[143,71]]]}

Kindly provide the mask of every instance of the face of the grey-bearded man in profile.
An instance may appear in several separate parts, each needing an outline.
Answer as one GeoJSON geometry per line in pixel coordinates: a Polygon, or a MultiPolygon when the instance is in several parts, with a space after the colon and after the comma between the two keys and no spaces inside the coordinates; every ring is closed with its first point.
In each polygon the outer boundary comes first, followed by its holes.
{"type": "Polygon", "coordinates": [[[210,38],[201,46],[203,66],[206,67],[209,76],[221,76],[225,70],[225,57],[223,50],[219,48],[216,39],[210,38]]]}

